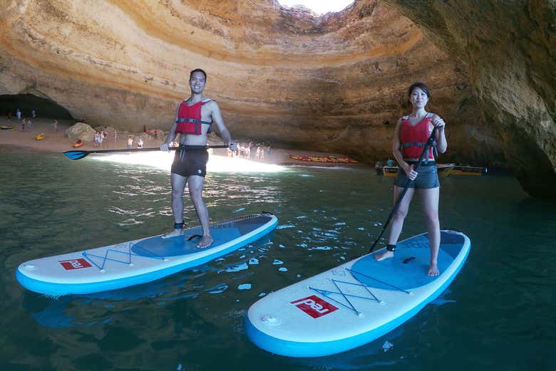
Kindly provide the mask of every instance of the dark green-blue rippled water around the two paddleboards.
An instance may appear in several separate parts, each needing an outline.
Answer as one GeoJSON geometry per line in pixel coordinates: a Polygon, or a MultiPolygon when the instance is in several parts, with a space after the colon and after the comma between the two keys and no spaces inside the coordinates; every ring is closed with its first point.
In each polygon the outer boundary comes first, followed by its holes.
{"type": "MultiPolygon", "coordinates": [[[[556,204],[511,177],[442,179],[441,224],[472,249],[441,297],[373,343],[294,359],[249,342],[247,308],[364,254],[391,210],[391,178],[364,167],[213,172],[212,220],[265,210],[279,229],[160,281],[48,298],[19,286],[19,263],[168,230],[168,172],[2,147],[0,174],[0,370],[556,370],[556,204]]],[[[187,199],[185,221],[195,222],[187,199]]],[[[414,202],[402,237],[423,231],[414,202]]]]}

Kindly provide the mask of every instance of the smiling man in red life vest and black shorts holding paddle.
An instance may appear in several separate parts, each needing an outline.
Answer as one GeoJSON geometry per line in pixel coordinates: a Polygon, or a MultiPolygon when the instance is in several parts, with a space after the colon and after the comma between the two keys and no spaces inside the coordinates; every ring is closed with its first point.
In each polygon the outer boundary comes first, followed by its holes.
{"type": "MultiPolygon", "coordinates": [[[[191,71],[189,78],[191,96],[177,105],[174,124],[165,142],[160,145],[160,150],[168,151],[170,143],[177,134],[180,134],[180,145],[207,145],[207,133],[210,132],[212,124],[216,125],[220,137],[230,147],[230,150],[236,150],[237,147],[224,125],[217,103],[202,95],[206,83],[207,74],[204,70],[197,68],[191,71]]],[[[175,224],[174,230],[166,234],[164,238],[180,236],[183,233],[183,192],[187,183],[197,218],[202,226],[202,237],[197,247],[205,248],[212,244],[208,210],[205,202],[202,201],[202,186],[205,184],[207,160],[208,153],[205,149],[176,150],[170,174],[175,224]]]]}

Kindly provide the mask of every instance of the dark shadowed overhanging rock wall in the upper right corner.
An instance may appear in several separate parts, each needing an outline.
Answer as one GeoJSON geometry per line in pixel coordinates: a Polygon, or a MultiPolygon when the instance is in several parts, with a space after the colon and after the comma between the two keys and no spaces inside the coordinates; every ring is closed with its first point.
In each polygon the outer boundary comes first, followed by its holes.
{"type": "Polygon", "coordinates": [[[388,2],[468,66],[482,121],[522,187],[556,198],[556,2],[388,2]]]}

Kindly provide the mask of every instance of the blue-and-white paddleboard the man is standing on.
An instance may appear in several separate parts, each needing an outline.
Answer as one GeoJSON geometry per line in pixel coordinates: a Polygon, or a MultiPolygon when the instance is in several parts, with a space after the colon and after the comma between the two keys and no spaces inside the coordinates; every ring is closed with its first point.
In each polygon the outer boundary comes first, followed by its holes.
{"type": "Polygon", "coordinates": [[[276,228],[276,216],[263,212],[211,225],[214,242],[197,248],[200,226],[168,239],[162,235],[21,263],[21,286],[51,296],[97,293],[148,283],[199,266],[257,241],[276,228]]]}

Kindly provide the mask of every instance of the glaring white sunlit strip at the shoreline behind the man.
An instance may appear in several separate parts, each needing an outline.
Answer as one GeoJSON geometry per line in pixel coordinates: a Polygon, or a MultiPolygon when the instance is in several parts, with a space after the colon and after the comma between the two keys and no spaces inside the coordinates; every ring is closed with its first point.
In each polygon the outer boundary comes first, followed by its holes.
{"type": "MultiPolygon", "coordinates": [[[[136,164],[155,167],[170,171],[174,159],[174,152],[128,153],[125,155],[106,155],[92,157],[98,161],[118,162],[120,164],[136,164]]],[[[249,161],[210,155],[207,162],[207,172],[283,172],[287,168],[276,164],[249,161]]]]}

